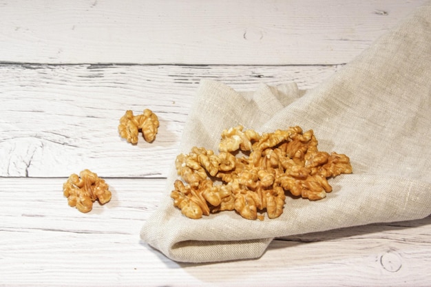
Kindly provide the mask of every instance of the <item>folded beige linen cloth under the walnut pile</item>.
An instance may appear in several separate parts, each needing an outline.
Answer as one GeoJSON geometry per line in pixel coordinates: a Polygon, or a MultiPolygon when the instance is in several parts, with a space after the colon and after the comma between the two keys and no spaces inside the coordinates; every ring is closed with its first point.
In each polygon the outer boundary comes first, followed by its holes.
{"type": "Polygon", "coordinates": [[[178,262],[260,257],[271,240],[333,228],[414,220],[431,214],[431,3],[383,35],[322,85],[294,83],[239,93],[202,81],[180,151],[217,151],[223,129],[313,129],[319,150],[345,153],[353,174],[330,179],[324,200],[286,198],[277,219],[245,220],[223,211],[199,220],[169,198],[173,167],[142,239],[178,262]]]}

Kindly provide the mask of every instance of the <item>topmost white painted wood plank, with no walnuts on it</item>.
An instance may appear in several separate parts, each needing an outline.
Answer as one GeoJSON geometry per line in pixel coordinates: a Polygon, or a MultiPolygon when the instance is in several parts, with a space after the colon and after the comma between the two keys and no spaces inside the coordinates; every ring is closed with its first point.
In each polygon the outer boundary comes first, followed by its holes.
{"type": "Polygon", "coordinates": [[[426,0],[0,3],[0,62],[347,63],[426,0]]]}

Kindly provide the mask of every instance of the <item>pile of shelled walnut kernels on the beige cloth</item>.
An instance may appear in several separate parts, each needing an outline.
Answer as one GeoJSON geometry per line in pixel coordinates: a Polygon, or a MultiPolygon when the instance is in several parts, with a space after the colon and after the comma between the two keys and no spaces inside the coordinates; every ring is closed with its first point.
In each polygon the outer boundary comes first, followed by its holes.
{"type": "Polygon", "coordinates": [[[262,135],[242,126],[225,129],[219,151],[193,147],[177,156],[186,184],[176,180],[171,198],[185,216],[235,210],[249,220],[263,220],[264,211],[276,218],[283,213],[285,191],[320,200],[332,191],[327,178],[352,173],[348,156],[318,151],[313,130],[303,133],[300,127],[262,135]]]}

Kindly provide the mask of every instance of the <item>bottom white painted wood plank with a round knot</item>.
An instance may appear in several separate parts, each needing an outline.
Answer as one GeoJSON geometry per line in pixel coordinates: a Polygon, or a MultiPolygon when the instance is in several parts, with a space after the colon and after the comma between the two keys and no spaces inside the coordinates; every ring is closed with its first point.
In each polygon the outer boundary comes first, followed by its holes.
{"type": "Polygon", "coordinates": [[[427,286],[431,217],[275,240],[260,258],[178,264],[139,240],[162,179],[107,179],[112,202],[67,206],[64,179],[0,178],[1,286],[427,286]]]}

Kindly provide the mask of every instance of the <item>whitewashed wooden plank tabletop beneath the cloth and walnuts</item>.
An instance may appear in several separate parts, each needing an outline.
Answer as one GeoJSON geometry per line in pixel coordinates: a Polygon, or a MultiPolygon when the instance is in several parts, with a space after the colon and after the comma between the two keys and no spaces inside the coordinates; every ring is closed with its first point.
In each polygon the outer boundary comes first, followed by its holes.
{"type": "Polygon", "coordinates": [[[180,264],[140,241],[200,79],[325,81],[425,1],[0,1],[0,286],[430,286],[431,217],[180,264]],[[118,136],[153,110],[156,141],[118,136]],[[112,200],[67,206],[90,169],[112,200]]]}

